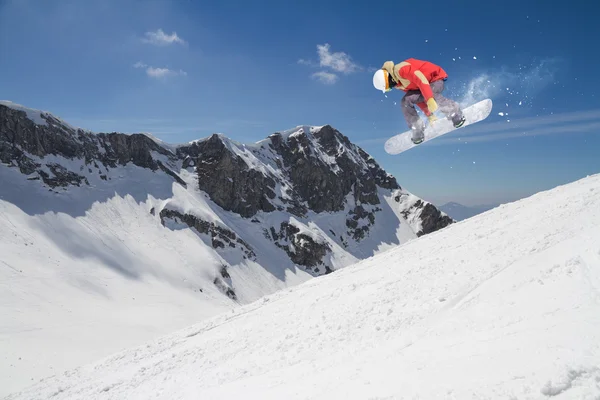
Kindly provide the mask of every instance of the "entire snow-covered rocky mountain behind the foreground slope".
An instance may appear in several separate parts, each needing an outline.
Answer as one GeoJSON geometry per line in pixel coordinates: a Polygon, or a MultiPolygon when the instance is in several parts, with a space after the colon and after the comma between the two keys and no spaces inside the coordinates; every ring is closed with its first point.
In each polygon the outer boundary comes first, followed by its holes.
{"type": "Polygon", "coordinates": [[[0,395],[453,222],[331,126],[173,145],[5,101],[0,163],[0,395]]]}

